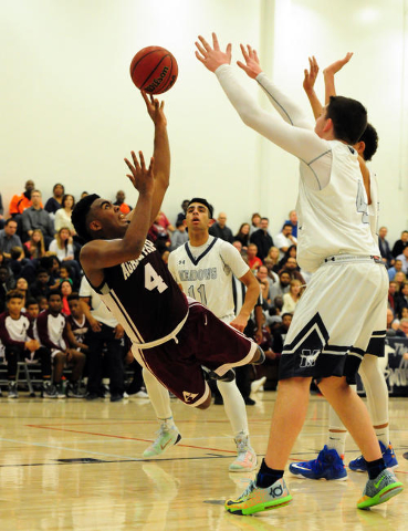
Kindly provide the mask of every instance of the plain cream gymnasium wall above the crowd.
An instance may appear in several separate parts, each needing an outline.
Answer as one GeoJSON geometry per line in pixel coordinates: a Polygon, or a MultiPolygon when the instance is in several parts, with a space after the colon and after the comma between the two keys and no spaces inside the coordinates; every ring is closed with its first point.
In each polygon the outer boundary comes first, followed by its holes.
{"type": "MultiPolygon", "coordinates": [[[[216,77],[195,58],[199,33],[221,44],[253,44],[266,73],[307,110],[307,55],[321,66],[355,52],[338,74],[338,93],[359,98],[380,137],[373,168],[381,222],[390,240],[408,227],[407,0],[2,0],[0,44],[3,204],[33,178],[46,198],[67,191],[114,198],[128,185],[123,158],[149,156],[153,125],[128,66],[140,48],[168,48],[179,79],[165,94],[172,150],[164,211],[174,220],[184,198],[206,196],[233,229],[260,210],[280,230],[294,208],[296,160],[245,127],[216,77]]],[[[269,106],[255,83],[242,82],[269,106]]],[[[318,81],[323,97],[323,83],[318,81]]],[[[312,119],[312,113],[310,113],[312,119]]]]}

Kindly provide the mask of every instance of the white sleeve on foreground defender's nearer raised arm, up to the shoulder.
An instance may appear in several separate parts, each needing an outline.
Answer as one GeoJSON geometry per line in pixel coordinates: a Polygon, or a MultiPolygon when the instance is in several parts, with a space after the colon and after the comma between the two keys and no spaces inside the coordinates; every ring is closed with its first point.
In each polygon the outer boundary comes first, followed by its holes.
{"type": "MultiPolygon", "coordinates": [[[[301,176],[307,186],[324,188],[328,184],[332,168],[329,143],[320,138],[314,131],[290,125],[281,117],[261,108],[241,86],[229,64],[219,66],[216,75],[242,122],[304,163],[308,171],[301,171],[301,176]]],[[[283,108],[283,105],[281,107],[283,108]]]]}

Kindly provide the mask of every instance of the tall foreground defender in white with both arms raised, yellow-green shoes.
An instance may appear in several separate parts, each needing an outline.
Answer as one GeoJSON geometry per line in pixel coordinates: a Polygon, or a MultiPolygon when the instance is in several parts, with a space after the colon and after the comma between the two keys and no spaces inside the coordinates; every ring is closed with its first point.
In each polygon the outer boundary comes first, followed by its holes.
{"type": "Polygon", "coordinates": [[[226,509],[251,514],[292,501],[283,472],[306,417],[312,378],[362,450],[369,479],[357,507],[367,509],[402,491],[386,468],[363,400],[348,385],[372,339],[378,337],[384,347],[379,336],[388,291],[369,225],[368,210],[376,208],[369,174],[363,179],[352,147],[367,126],[367,113],[355,100],[332,96],[313,131],[297,106],[268,80],[257,53],[241,45],[244,63],[239,66],[261,85],[281,119],[240,85],[230,66],[231,44],[222,52],[215,33],[212,39],[211,46],[199,38],[197,59],[216,73],[248,126],[301,162],[299,264],[314,272],[285,339],[265,458],[257,479],[240,498],[228,500],[226,509]]]}

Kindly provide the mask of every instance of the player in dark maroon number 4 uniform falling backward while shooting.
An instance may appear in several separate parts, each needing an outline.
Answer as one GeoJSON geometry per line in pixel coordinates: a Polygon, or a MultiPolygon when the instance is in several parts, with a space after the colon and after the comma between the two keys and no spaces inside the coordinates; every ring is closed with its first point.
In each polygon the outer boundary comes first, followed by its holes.
{"type": "Polygon", "coordinates": [[[155,125],[154,157],[132,152],[125,159],[139,196],[124,216],[96,194],[72,212],[76,232],[87,242],[81,264],[92,287],[123,325],[136,360],[185,404],[206,409],[211,393],[201,366],[218,379],[233,366],[263,361],[259,346],[187,299],[146,235],[169,184],[170,149],[164,103],[143,93],[155,125]]]}

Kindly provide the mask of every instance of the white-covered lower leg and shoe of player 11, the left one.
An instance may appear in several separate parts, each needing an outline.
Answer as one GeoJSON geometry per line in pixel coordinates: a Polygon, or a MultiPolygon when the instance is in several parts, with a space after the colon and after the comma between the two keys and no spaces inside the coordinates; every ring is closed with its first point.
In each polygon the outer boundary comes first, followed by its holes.
{"type": "Polygon", "coordinates": [[[181,439],[181,435],[172,419],[168,391],[146,368],[143,369],[143,377],[157,420],[160,424],[156,439],[146,448],[143,457],[155,457],[177,445],[181,439]]]}

